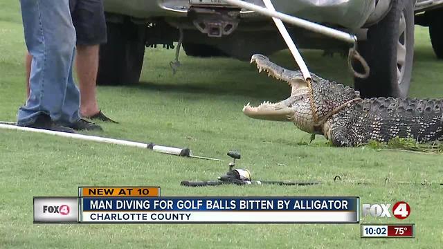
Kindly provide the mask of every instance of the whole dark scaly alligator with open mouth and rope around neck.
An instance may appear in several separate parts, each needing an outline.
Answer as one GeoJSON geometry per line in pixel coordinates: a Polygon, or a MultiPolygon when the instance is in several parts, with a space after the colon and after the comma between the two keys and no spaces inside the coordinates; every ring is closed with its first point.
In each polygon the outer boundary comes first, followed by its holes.
{"type": "Polygon", "coordinates": [[[412,138],[425,143],[443,140],[443,100],[367,98],[349,86],[325,80],[314,73],[305,80],[300,71],[274,64],[264,55],[253,55],[251,64],[291,87],[291,95],[277,103],[250,103],[243,113],[260,120],[289,121],[298,129],[320,134],[338,147],[357,147],[371,140],[412,138]]]}

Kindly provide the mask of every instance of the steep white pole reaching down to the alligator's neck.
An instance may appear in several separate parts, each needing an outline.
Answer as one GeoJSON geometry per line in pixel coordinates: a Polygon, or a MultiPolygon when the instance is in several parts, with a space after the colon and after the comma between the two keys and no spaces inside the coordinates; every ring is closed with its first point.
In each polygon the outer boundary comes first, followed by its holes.
{"type": "MultiPolygon", "coordinates": [[[[263,2],[264,2],[264,5],[266,6],[266,8],[268,8],[268,10],[275,12],[275,8],[274,8],[271,0],[263,0],[263,2]]],[[[300,55],[300,53],[298,52],[297,46],[296,46],[296,44],[294,44],[291,36],[288,33],[288,30],[284,26],[282,20],[275,18],[275,17],[272,17],[272,19],[275,22],[275,26],[277,26],[278,30],[280,31],[280,34],[282,34],[284,42],[286,42],[289,50],[291,50],[293,58],[296,59],[298,67],[300,67],[300,71],[302,71],[303,77],[305,78],[306,81],[310,81],[311,80],[311,73],[309,73],[309,69],[307,68],[307,66],[305,64],[305,61],[303,60],[302,55],[300,55]]]]}

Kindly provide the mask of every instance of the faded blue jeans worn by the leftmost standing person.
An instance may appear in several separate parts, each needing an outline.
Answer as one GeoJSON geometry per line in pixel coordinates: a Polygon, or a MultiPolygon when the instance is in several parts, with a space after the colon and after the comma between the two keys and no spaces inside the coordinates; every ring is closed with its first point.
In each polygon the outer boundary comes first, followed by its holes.
{"type": "Polygon", "coordinates": [[[33,56],[30,95],[17,124],[33,124],[42,114],[67,125],[80,120],[80,92],[73,81],[75,29],[69,0],[20,0],[24,35],[33,56]]]}

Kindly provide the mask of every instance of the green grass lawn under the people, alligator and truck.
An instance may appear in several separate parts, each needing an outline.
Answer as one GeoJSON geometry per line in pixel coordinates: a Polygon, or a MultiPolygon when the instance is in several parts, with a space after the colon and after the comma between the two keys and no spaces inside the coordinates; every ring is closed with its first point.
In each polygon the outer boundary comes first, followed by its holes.
{"type": "MultiPolygon", "coordinates": [[[[25,101],[25,46],[19,3],[0,3],[0,120],[14,121],[25,101]]],[[[345,59],[303,53],[311,71],[352,84],[345,59]]],[[[242,115],[247,102],[285,98],[286,84],[259,75],[233,59],[181,55],[172,75],[173,50],[147,49],[141,84],[98,87],[100,107],[120,124],[102,123],[100,136],[190,147],[224,163],[156,154],[143,149],[0,130],[0,248],[441,248],[443,188],[384,185],[392,181],[443,181],[443,156],[336,148],[287,122],[242,115]],[[222,186],[186,188],[190,179],[226,172],[226,152],[242,153],[239,167],[255,178],[327,181],[313,187],[222,186]],[[334,176],[374,185],[330,183],[334,176]],[[360,239],[354,225],[37,225],[33,196],[76,196],[81,185],[159,185],[163,196],[360,196],[361,203],[408,201],[404,222],[416,223],[415,239],[360,239]]],[[[294,68],[287,52],[272,59],[294,68]]],[[[416,32],[410,96],[443,97],[443,62],[425,28],[416,32]]],[[[363,222],[382,222],[365,218],[363,222]]],[[[386,222],[398,220],[386,219],[386,222]]]]}

